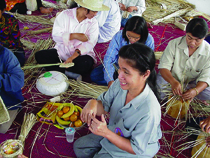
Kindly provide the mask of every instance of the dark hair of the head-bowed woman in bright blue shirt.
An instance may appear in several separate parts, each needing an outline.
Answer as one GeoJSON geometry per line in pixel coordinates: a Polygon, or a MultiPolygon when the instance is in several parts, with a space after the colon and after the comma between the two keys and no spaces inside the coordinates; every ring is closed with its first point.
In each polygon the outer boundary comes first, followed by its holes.
{"type": "Polygon", "coordinates": [[[139,43],[145,44],[148,37],[148,28],[146,20],[141,16],[133,16],[125,24],[125,28],[123,29],[122,36],[129,43],[128,37],[126,36],[126,31],[132,31],[136,34],[141,35],[139,43]]]}

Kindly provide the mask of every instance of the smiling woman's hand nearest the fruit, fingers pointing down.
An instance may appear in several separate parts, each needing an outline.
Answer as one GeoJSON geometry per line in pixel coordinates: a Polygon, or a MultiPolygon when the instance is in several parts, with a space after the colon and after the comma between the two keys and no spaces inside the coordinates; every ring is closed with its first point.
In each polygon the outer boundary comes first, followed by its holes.
{"type": "Polygon", "coordinates": [[[89,100],[88,103],[85,105],[80,117],[82,122],[86,122],[88,126],[90,126],[91,117],[95,118],[96,114],[97,114],[97,100],[92,99],[89,100]]]}

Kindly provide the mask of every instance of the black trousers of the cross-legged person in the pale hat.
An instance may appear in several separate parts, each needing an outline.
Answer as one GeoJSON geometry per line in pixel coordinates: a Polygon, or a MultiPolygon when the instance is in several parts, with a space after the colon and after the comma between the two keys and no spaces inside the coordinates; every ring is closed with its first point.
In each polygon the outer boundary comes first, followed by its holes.
{"type": "MultiPolygon", "coordinates": [[[[35,59],[39,64],[60,63],[56,49],[41,50],[36,52],[35,59]]],[[[60,68],[59,66],[45,67],[47,71],[55,70],[60,72],[71,71],[77,74],[87,74],[92,70],[94,61],[89,55],[81,55],[73,60],[74,66],[70,68],[60,68]]]]}

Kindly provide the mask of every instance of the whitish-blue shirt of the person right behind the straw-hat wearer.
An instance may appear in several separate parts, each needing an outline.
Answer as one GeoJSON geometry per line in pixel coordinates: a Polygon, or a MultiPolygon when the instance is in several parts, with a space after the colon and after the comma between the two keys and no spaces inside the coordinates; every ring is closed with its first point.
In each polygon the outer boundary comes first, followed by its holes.
{"type": "Polygon", "coordinates": [[[119,5],[114,0],[104,0],[103,4],[110,8],[109,11],[100,11],[96,19],[99,24],[98,43],[108,42],[120,30],[121,15],[119,5]]]}

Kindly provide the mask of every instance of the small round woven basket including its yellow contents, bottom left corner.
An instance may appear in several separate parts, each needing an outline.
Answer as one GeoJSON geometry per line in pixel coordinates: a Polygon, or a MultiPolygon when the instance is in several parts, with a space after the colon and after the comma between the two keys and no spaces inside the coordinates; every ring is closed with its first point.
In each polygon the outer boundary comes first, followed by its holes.
{"type": "Polygon", "coordinates": [[[4,158],[17,158],[23,153],[23,144],[20,140],[8,139],[1,143],[0,154],[4,158]]]}

